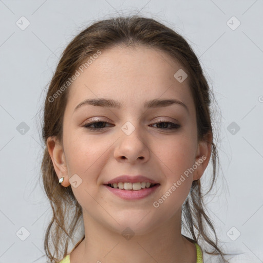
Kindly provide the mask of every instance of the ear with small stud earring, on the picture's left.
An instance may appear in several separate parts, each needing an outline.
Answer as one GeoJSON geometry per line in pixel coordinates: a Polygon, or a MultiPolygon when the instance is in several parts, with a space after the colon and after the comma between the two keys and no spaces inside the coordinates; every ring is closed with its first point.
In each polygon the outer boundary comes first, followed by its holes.
{"type": "Polygon", "coordinates": [[[64,180],[61,184],[65,187],[69,186],[70,183],[66,165],[66,158],[63,151],[62,143],[55,136],[50,136],[47,138],[47,148],[58,179],[64,177],[64,180]]]}

